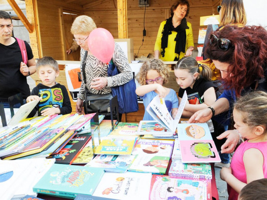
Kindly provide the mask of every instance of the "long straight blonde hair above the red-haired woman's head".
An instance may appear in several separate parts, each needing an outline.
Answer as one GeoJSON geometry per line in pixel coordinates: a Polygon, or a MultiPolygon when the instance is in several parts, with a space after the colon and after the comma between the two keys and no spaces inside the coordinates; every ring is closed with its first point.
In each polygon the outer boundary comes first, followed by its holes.
{"type": "Polygon", "coordinates": [[[246,24],[243,0],[222,0],[221,26],[227,24],[246,24]]]}

